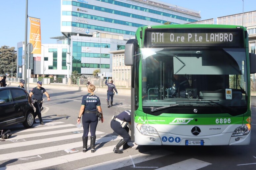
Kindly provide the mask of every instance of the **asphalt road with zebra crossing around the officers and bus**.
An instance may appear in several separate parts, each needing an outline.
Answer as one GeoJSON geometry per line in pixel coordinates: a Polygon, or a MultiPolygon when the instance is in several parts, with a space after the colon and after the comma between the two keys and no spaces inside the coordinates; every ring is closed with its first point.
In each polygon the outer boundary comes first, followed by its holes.
{"type": "MultiPolygon", "coordinates": [[[[111,117],[130,109],[130,96],[114,96],[107,108],[106,94],[101,99],[105,122],[98,123],[96,152],[82,153],[81,133],[75,127],[84,91],[46,89],[51,101],[44,102],[42,117],[46,125],[10,127],[14,135],[0,142],[1,169],[256,169],[256,107],[252,107],[251,144],[247,146],[136,146],[114,154],[120,136],[110,128],[111,117]],[[33,130],[33,131],[32,131],[33,130]],[[78,136],[77,136],[78,135],[78,136]],[[65,148],[63,148],[65,146],[65,148]],[[80,152],[66,153],[76,148],[80,152]]],[[[252,105],[256,105],[253,97],[252,105]]],[[[90,143],[88,142],[88,145],[90,143]]],[[[132,144],[132,143],[130,143],[132,144]]]]}

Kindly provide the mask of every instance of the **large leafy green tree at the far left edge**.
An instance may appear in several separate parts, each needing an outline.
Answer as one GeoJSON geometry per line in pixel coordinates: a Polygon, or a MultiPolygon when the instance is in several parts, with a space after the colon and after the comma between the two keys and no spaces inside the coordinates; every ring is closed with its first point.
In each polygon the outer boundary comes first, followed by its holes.
{"type": "Polygon", "coordinates": [[[9,48],[9,46],[2,46],[0,48],[0,74],[11,74],[16,75],[17,72],[17,51],[15,47],[9,48]]]}

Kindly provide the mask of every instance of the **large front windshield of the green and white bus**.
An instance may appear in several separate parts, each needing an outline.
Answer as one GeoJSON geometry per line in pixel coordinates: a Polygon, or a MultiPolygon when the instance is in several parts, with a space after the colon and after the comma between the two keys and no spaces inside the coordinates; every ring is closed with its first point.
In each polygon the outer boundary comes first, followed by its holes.
{"type": "Polygon", "coordinates": [[[234,115],[247,109],[244,48],[142,48],[141,54],[144,112],[174,104],[157,114],[211,106],[212,113],[234,115]]]}

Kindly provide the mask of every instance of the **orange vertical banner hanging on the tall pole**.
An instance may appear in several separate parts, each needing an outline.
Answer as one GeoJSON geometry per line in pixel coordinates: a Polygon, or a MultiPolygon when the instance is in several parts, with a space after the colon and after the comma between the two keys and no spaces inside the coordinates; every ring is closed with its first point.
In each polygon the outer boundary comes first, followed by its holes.
{"type": "Polygon", "coordinates": [[[28,17],[30,21],[29,43],[33,44],[33,54],[41,54],[41,21],[28,17]]]}

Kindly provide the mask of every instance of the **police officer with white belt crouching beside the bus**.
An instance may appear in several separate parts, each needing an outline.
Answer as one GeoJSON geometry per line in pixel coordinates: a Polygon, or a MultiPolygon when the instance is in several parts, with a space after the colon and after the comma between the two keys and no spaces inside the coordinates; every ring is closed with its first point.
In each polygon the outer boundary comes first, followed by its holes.
{"type": "Polygon", "coordinates": [[[131,110],[125,110],[119,115],[112,117],[110,127],[114,130],[114,132],[123,137],[123,139],[121,139],[115,146],[113,150],[114,153],[122,154],[123,151],[120,151],[119,149],[122,145],[123,149],[132,148],[127,144],[131,138],[129,135],[129,127],[127,126],[128,123],[131,124],[131,110]]]}

